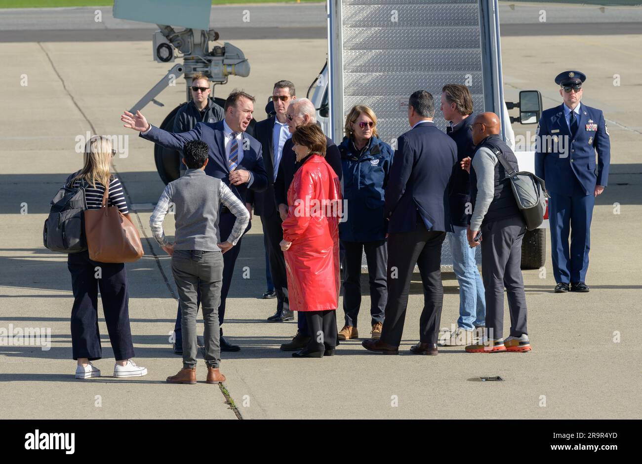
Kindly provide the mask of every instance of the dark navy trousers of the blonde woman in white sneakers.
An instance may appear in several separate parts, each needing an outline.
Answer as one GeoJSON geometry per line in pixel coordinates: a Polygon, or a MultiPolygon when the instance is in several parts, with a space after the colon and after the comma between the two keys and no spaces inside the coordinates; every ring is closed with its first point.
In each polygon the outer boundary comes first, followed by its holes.
{"type": "Polygon", "coordinates": [[[86,357],[94,361],[103,357],[98,330],[99,288],[114,358],[123,361],[134,357],[125,264],[91,261],[89,252],[84,251],[69,253],[67,268],[74,293],[71,308],[73,359],[86,357]]]}

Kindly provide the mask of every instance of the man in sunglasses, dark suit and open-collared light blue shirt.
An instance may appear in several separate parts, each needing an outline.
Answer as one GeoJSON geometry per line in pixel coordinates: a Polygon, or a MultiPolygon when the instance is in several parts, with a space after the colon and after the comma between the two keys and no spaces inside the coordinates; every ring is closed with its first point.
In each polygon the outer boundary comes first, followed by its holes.
{"type": "Polygon", "coordinates": [[[288,130],[288,105],[296,99],[294,84],[281,80],[274,84],[272,89],[272,107],[274,114],[254,126],[256,139],[263,147],[263,163],[268,174],[268,188],[265,192],[254,194],[254,211],[261,216],[265,248],[268,253],[270,273],[274,290],[277,294],[276,313],[268,317],[270,322],[285,322],[294,320],[288,302],[288,278],[285,270],[285,259],[281,250],[283,229],[281,228],[281,215],[277,210],[274,196],[274,181],[279,172],[279,164],[283,155],[283,146],[291,137],[288,130]]]}

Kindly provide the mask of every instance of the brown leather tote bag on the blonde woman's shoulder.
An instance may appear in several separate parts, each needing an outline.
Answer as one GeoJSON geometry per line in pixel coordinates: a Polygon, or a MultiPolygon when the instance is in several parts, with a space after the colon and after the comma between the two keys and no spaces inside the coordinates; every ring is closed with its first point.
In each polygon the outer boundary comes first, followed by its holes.
{"type": "Polygon", "coordinates": [[[143,257],[141,236],[116,206],[107,207],[109,185],[100,209],[85,210],[85,236],[89,259],[98,262],[134,262],[143,257]]]}

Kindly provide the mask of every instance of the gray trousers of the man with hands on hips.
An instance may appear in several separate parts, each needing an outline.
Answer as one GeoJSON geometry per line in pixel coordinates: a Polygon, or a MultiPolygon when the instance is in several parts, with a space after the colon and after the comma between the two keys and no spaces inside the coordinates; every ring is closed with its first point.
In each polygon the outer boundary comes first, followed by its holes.
{"type": "Polygon", "coordinates": [[[196,288],[200,288],[205,323],[205,364],[218,368],[221,362],[218,305],[223,282],[223,253],[201,250],[175,250],[171,271],[178,288],[180,326],[183,336],[183,367],[196,367],[196,288]]]}

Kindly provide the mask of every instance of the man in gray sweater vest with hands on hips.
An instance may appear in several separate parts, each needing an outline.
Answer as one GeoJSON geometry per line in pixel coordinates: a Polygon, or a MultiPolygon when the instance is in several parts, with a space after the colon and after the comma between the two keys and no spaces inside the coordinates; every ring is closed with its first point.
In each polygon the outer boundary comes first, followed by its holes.
{"type": "Polygon", "coordinates": [[[205,322],[207,383],[225,381],[220,373],[218,305],[223,279],[223,255],[236,245],[250,221],[250,214],[220,179],[205,174],[209,147],[202,141],[187,142],[183,148],[184,176],[170,182],[150,218],[150,228],[165,252],[171,255],[176,280],[183,334],[183,368],[167,378],[170,383],[196,383],[196,289],[200,289],[205,322]],[[225,205],[236,221],[230,236],[221,243],[218,212],[225,205]],[[173,210],[176,233],[173,245],[165,238],[162,221],[173,210]]]}

